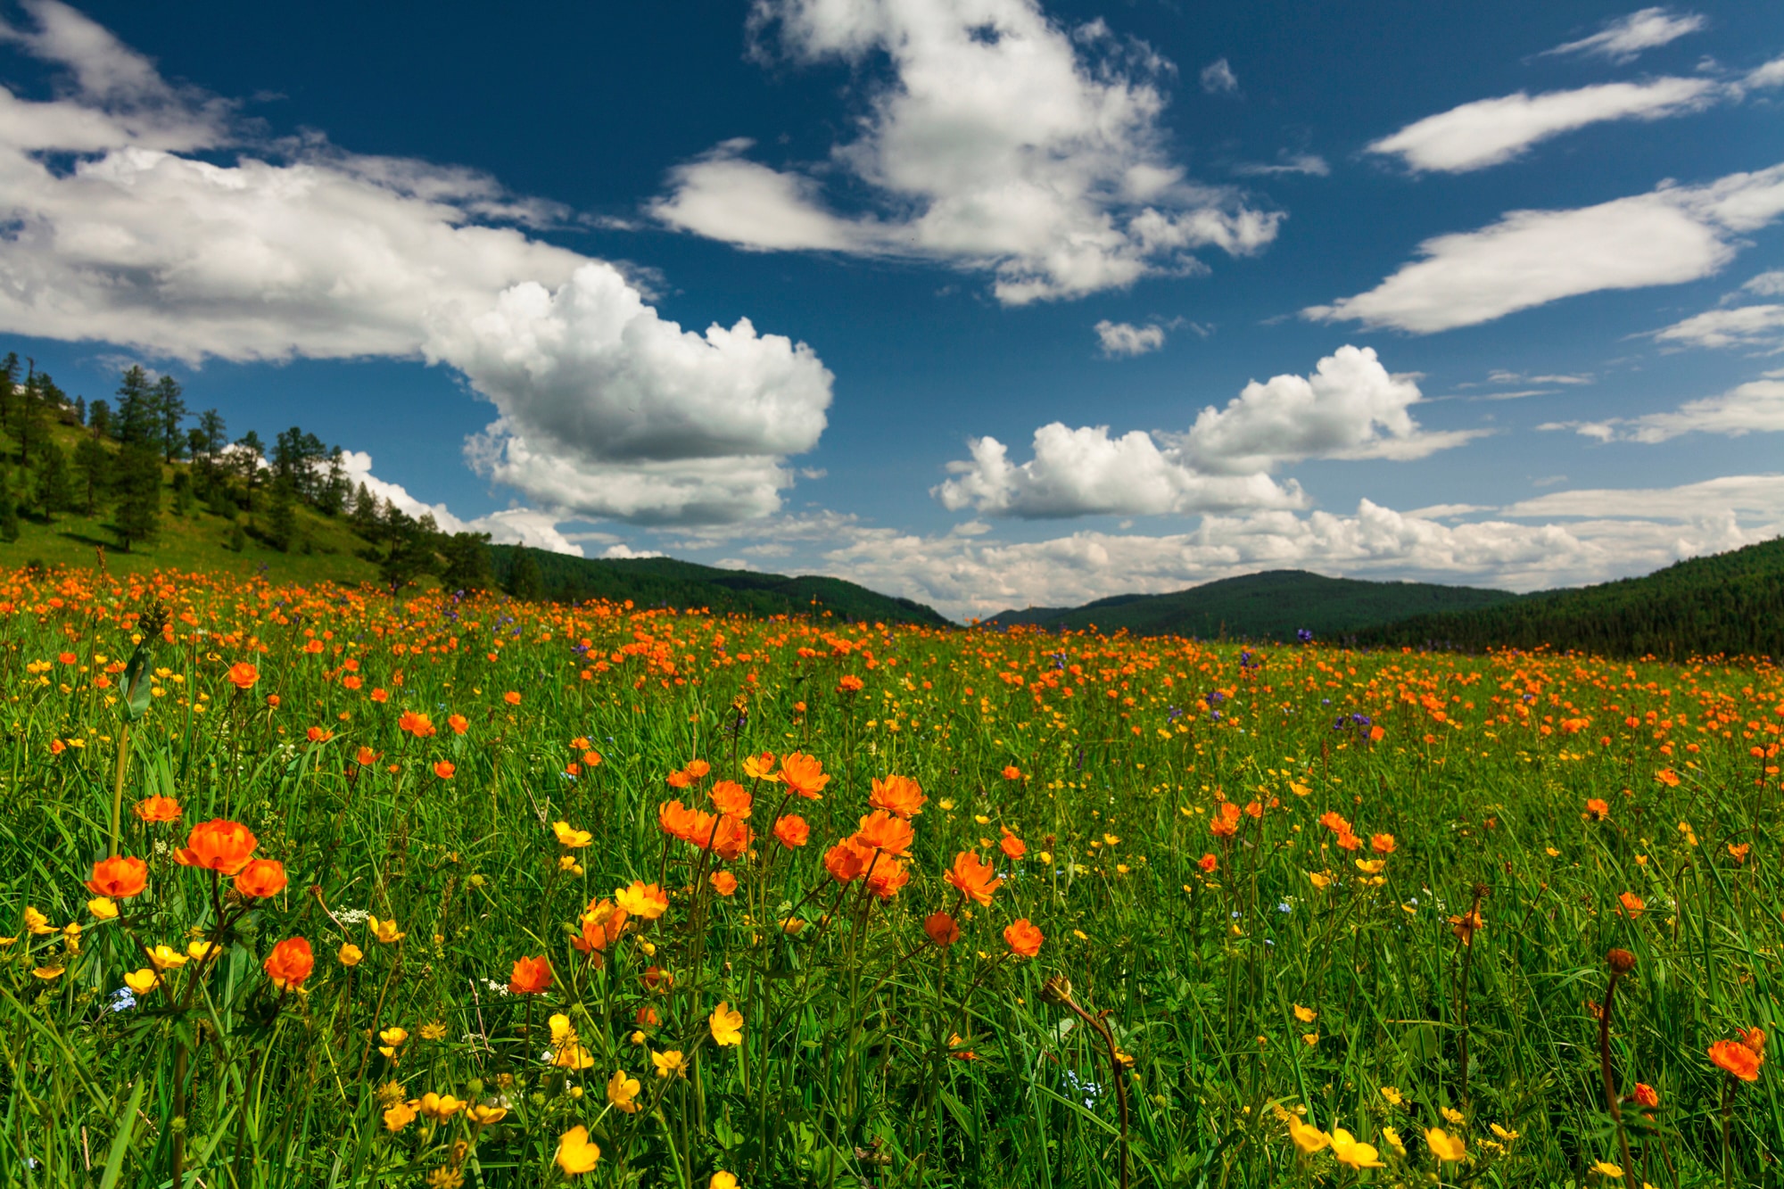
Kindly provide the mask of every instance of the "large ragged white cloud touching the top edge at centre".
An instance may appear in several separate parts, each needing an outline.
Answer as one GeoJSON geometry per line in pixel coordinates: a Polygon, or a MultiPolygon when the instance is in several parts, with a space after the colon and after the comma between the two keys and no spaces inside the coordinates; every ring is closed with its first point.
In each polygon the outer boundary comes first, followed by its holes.
{"type": "Polygon", "coordinates": [[[731,139],[671,171],[651,212],[749,250],[942,261],[994,275],[1006,303],[1206,268],[1276,237],[1279,212],[1199,186],[1165,150],[1170,64],[1101,21],[1067,30],[1037,0],[758,0],[756,50],[890,66],[856,139],[810,168],[731,139]],[[837,179],[835,191],[826,187],[837,179]],[[838,209],[837,193],[867,195],[838,209]]]}

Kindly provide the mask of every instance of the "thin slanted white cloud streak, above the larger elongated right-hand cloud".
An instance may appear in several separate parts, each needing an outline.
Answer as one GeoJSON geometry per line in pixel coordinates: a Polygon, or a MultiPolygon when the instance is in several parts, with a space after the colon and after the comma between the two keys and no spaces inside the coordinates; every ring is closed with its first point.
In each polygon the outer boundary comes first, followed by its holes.
{"type": "Polygon", "coordinates": [[[1524,155],[1531,145],[1607,120],[1663,120],[1702,111],[1722,93],[1707,79],[1604,82],[1577,91],[1475,100],[1409,123],[1368,146],[1413,171],[1466,173],[1524,155]]]}

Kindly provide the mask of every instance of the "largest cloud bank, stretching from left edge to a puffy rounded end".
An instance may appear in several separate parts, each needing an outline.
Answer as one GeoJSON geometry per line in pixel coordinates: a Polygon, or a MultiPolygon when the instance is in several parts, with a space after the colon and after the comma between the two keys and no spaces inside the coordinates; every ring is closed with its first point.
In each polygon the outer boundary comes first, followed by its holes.
{"type": "Polygon", "coordinates": [[[4,36],[68,80],[43,102],[0,89],[0,328],[194,364],[426,359],[496,405],[471,461],[551,512],[780,505],[830,403],[805,345],[747,320],[681,330],[612,264],[514,227],[551,204],[318,137],[257,143],[73,9],[30,12],[4,36]]]}

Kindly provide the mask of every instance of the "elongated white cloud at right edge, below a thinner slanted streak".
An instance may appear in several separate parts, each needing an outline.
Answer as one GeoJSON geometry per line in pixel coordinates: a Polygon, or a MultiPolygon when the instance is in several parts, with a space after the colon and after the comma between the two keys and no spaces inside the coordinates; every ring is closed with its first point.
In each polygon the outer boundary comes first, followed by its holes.
{"type": "Polygon", "coordinates": [[[1450,330],[1598,289],[1681,284],[1734,259],[1743,232],[1784,212],[1784,166],[1704,186],[1659,186],[1573,211],[1511,211],[1418,245],[1368,293],[1309,305],[1315,321],[1450,330]]]}

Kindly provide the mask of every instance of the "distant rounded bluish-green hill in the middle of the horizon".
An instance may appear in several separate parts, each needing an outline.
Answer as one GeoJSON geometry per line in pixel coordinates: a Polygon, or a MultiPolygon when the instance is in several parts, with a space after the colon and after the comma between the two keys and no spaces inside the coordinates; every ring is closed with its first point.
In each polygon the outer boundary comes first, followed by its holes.
{"type": "Polygon", "coordinates": [[[987,623],[1074,630],[1095,625],[1103,632],[1126,628],[1140,636],[1286,641],[1301,628],[1322,639],[1350,636],[1411,616],[1490,607],[1515,598],[1509,591],[1466,586],[1367,582],[1326,578],[1306,570],[1268,570],[1170,594],[1115,594],[1083,607],[1006,611],[987,623]]]}

